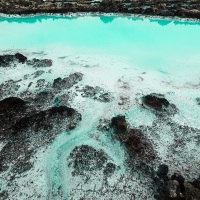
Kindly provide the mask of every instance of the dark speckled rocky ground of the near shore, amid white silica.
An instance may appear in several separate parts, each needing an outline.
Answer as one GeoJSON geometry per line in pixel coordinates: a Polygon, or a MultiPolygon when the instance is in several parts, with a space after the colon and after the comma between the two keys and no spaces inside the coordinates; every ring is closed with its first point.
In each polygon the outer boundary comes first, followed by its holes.
{"type": "MultiPolygon", "coordinates": [[[[24,67],[27,65],[37,71],[25,75],[18,81],[8,80],[0,84],[0,142],[1,145],[3,144],[0,150],[0,178],[3,177],[6,185],[6,188],[0,190],[1,199],[12,199],[11,193],[17,193],[18,180],[26,176],[26,173],[31,173],[36,166],[37,159],[33,158],[37,155],[38,149],[45,152],[63,131],[67,131],[69,135],[75,134],[72,131],[77,130],[79,124],[84,120],[84,115],[70,106],[70,99],[74,95],[101,103],[109,103],[114,99],[112,94],[103,88],[82,86],[81,81],[84,79],[84,74],[80,72],[69,74],[65,78],[57,77],[52,82],[41,78],[36,82],[35,78],[45,73],[45,69],[50,69],[54,65],[54,60],[30,59],[21,53],[0,55],[1,69],[15,68],[18,64],[24,64],[24,67]],[[20,82],[29,80],[28,78],[31,82],[28,83],[25,90],[19,92],[20,82]],[[34,81],[36,82],[35,88],[34,81]],[[32,89],[30,89],[31,87],[32,89]],[[75,89],[74,94],[70,92],[71,88],[75,89]]],[[[198,100],[199,98],[196,100],[197,103],[198,100]]],[[[126,104],[125,100],[123,104],[126,104]]],[[[147,137],[147,132],[151,135],[162,135],[164,134],[163,127],[168,127],[169,133],[170,131],[174,133],[174,143],[170,148],[176,153],[179,148],[187,148],[186,143],[189,142],[187,137],[198,136],[199,130],[174,122],[171,116],[178,113],[179,109],[164,95],[156,93],[143,95],[138,100],[138,106],[155,115],[156,119],[152,126],[133,127],[125,115],[117,115],[107,121],[102,118],[93,132],[98,131],[100,135],[106,135],[112,141],[120,143],[125,150],[125,162],[130,169],[130,174],[134,177],[141,173],[144,177],[148,177],[149,184],[154,187],[154,192],[151,194],[149,191],[149,195],[154,195],[154,199],[199,199],[199,172],[194,168],[187,173],[183,169],[174,171],[174,163],[170,165],[161,161],[152,140],[147,137]],[[173,174],[169,173],[170,170],[173,171],[173,174]],[[195,173],[195,171],[197,171],[197,178],[190,180],[185,176],[185,174],[195,173]]],[[[52,157],[51,159],[53,160],[52,157]]],[[[107,180],[117,170],[120,170],[120,166],[109,158],[104,149],[95,149],[89,144],[80,145],[78,143],[66,160],[69,161],[66,167],[72,169],[71,174],[75,180],[80,176],[85,179],[84,184],[86,185],[90,182],[88,177],[91,173],[102,171],[104,177],[102,190],[105,191],[105,194],[109,194],[113,190],[132,195],[131,188],[124,186],[120,190],[117,187],[109,186],[107,180]]],[[[56,168],[57,171],[58,168],[56,168]]],[[[142,179],[142,177],[139,178],[140,181],[142,179]]],[[[26,184],[25,182],[23,187],[26,187],[26,184]]],[[[131,181],[131,185],[133,184],[134,182],[131,181]]],[[[31,185],[33,185],[32,180],[31,185]]],[[[61,186],[58,188],[54,186],[50,190],[50,195],[55,195],[54,190],[61,190],[61,186]]],[[[97,190],[95,195],[100,191],[100,189],[97,190]]],[[[81,192],[84,193],[82,189],[81,192]]],[[[27,195],[27,198],[41,199],[40,195],[34,197],[27,195]]],[[[59,195],[63,198],[62,193],[59,195]]],[[[137,198],[134,196],[132,199],[137,198]]]]}

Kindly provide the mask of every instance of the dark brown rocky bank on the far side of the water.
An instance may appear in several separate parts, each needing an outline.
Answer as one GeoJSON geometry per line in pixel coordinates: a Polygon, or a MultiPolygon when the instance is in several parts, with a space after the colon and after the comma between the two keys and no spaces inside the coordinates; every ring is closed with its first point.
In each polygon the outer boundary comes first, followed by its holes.
{"type": "Polygon", "coordinates": [[[82,1],[44,1],[12,0],[0,1],[0,13],[3,14],[40,14],[40,13],[128,13],[164,17],[200,19],[200,1],[131,1],[131,0],[82,0],[82,1]]]}

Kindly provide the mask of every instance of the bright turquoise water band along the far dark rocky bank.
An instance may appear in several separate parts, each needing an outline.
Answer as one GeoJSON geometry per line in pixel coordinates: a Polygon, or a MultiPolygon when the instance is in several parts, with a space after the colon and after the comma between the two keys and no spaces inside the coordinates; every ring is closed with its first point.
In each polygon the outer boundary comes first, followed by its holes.
{"type": "Polygon", "coordinates": [[[125,55],[140,67],[163,72],[181,70],[184,62],[198,68],[199,24],[114,16],[1,18],[0,49],[62,45],[125,55]]]}

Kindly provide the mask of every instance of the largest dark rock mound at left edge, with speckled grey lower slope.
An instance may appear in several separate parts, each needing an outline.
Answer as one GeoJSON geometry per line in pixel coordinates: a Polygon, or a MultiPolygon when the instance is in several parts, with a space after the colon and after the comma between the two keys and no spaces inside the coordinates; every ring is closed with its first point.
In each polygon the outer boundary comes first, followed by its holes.
{"type": "Polygon", "coordinates": [[[81,115],[66,106],[37,111],[34,105],[17,97],[0,101],[0,171],[14,174],[29,170],[30,158],[38,148],[46,149],[62,131],[76,127],[81,115]]]}

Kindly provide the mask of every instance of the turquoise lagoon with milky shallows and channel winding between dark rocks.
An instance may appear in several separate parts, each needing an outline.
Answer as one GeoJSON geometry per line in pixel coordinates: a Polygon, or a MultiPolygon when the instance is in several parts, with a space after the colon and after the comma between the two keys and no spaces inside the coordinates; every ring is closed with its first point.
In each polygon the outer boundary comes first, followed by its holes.
{"type": "MultiPolygon", "coordinates": [[[[11,198],[39,199],[41,195],[42,199],[80,199],[85,197],[85,192],[80,191],[89,191],[87,198],[92,199],[94,192],[90,191],[101,190],[101,172],[91,173],[90,182],[84,184],[81,177],[71,176],[66,159],[75,146],[87,144],[103,149],[119,166],[108,179],[108,185],[120,182],[116,186],[119,190],[126,185],[131,191],[114,194],[108,187],[106,195],[95,193],[97,199],[131,199],[133,193],[135,199],[154,199],[148,177],[141,178],[138,172],[130,180],[123,147],[110,136],[99,133],[96,127],[100,119],[111,119],[118,114],[125,115],[132,127],[152,126],[156,116],[141,108],[140,98],[161,93],[179,109],[171,117],[174,123],[200,128],[200,106],[196,102],[200,97],[199,35],[200,22],[171,19],[103,15],[0,18],[1,54],[19,51],[29,58],[50,58],[51,70],[44,69],[46,73],[39,78],[52,83],[57,77],[81,72],[82,86],[100,86],[113,95],[110,103],[79,94],[74,97],[71,106],[82,114],[82,122],[71,133],[61,133],[47,150],[38,150],[33,158],[34,168],[17,179],[19,189],[11,192],[11,198]],[[124,105],[119,104],[122,97],[127,99],[124,105]],[[25,187],[25,183],[29,186],[25,187]],[[75,190],[81,184],[83,189],[75,190]]],[[[0,69],[0,83],[19,80],[34,70],[22,64],[0,69]]],[[[23,80],[20,91],[25,90],[30,80],[37,79],[23,80]]],[[[34,84],[31,89],[34,91],[34,84]]],[[[153,134],[148,131],[145,134],[152,141],[160,163],[170,166],[170,173],[180,170],[188,179],[195,178],[195,172],[200,170],[200,148],[192,133],[184,139],[185,147],[177,155],[171,151],[174,133],[166,124],[161,124],[153,134]],[[194,173],[188,175],[191,167],[194,173]]],[[[0,184],[6,187],[4,181],[0,184]]]]}

